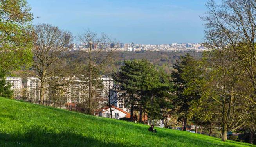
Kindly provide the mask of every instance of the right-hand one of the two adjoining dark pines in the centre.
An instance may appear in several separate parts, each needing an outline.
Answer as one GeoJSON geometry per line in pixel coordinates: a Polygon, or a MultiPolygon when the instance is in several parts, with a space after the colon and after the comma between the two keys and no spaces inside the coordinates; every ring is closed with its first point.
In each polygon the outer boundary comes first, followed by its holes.
{"type": "Polygon", "coordinates": [[[170,82],[170,77],[161,68],[159,70],[154,68],[142,83],[141,95],[144,97],[143,100],[146,101],[145,107],[150,120],[167,120],[171,113],[171,101],[173,99],[171,93],[173,84],[170,82]]]}

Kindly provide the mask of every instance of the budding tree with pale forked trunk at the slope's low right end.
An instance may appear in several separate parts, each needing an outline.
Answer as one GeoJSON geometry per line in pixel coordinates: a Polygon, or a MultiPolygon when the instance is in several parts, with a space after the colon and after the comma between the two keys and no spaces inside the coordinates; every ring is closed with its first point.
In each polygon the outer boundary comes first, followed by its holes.
{"type": "Polygon", "coordinates": [[[204,95],[210,97],[222,118],[222,141],[227,140],[227,131],[242,127],[249,118],[254,104],[241,95],[250,96],[252,91],[243,76],[245,69],[239,66],[239,58],[227,43],[228,37],[222,32],[211,34],[206,47],[206,65],[212,68],[206,73],[208,79],[204,95]],[[245,84],[246,83],[246,84],[245,84]]]}

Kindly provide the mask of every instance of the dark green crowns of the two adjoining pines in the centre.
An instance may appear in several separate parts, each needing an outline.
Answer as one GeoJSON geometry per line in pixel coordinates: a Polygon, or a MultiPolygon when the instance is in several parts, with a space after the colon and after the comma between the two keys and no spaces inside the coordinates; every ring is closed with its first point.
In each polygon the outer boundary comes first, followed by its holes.
{"type": "Polygon", "coordinates": [[[157,70],[148,60],[124,63],[114,79],[121,84],[121,90],[131,95],[126,104],[137,104],[136,108],[143,108],[151,119],[162,118],[162,107],[165,112],[171,107],[171,103],[167,102],[170,101],[173,87],[170,77],[163,69],[157,70]]]}

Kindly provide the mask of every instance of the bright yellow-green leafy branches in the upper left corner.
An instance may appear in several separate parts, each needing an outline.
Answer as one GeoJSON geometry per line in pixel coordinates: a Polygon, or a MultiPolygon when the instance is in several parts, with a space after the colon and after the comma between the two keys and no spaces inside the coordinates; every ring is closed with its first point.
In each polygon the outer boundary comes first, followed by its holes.
{"type": "Polygon", "coordinates": [[[32,61],[32,13],[26,0],[0,0],[0,68],[16,70],[32,61]]]}

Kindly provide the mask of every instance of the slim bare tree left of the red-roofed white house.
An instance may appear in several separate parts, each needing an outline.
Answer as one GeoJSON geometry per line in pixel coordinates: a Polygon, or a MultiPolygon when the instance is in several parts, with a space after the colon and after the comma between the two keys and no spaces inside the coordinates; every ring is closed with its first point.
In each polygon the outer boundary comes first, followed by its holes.
{"type": "Polygon", "coordinates": [[[92,114],[94,98],[101,84],[100,79],[111,62],[112,49],[108,47],[110,37],[105,34],[97,37],[95,32],[87,30],[79,38],[86,45],[80,56],[85,61],[81,65],[81,74],[86,76],[83,81],[88,86],[87,114],[92,114]]]}

